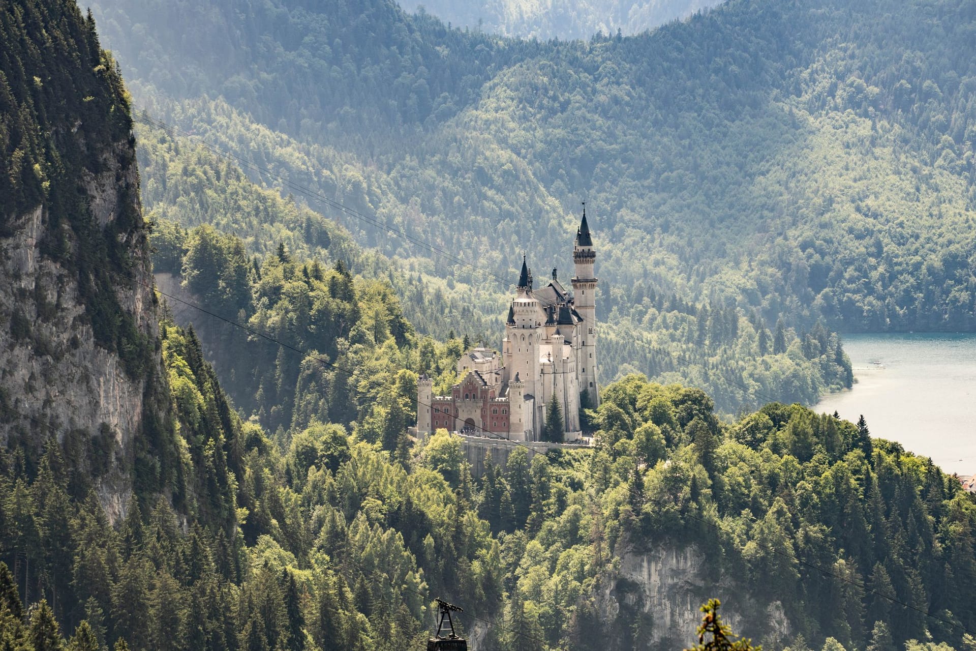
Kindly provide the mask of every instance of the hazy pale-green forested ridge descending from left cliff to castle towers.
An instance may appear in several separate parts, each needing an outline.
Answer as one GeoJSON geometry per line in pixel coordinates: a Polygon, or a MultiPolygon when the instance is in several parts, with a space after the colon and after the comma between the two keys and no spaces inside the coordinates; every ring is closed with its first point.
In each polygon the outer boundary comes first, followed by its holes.
{"type": "MultiPolygon", "coordinates": [[[[217,105],[220,103],[205,104],[201,110],[208,114],[227,111],[227,137],[234,142],[251,142],[266,147],[269,155],[276,152],[311,164],[297,142],[282,141],[246,116],[217,105]]],[[[485,292],[481,281],[478,285],[445,282],[431,275],[434,269],[425,261],[390,260],[363,249],[346,228],[329,219],[334,217],[331,211],[316,213],[291,196],[283,198],[273,187],[253,182],[239,167],[189,139],[148,125],[140,125],[138,133],[142,202],[155,223],[156,271],[180,273],[186,253],[185,229],[211,224],[239,238],[250,255],[264,258],[284,245],[295,258],[322,264],[343,261],[353,273],[385,278],[404,298],[405,314],[422,332],[445,337],[451,328],[465,329],[483,339],[483,333],[497,321],[493,310],[502,298],[496,292],[485,292]]]]}

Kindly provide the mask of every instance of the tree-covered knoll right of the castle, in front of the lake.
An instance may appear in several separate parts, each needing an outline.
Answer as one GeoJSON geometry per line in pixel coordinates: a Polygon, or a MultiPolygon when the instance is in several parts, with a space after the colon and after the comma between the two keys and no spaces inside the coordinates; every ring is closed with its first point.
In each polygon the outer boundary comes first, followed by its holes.
{"type": "MultiPolygon", "coordinates": [[[[940,640],[961,645],[959,629],[880,596],[944,619],[965,617],[943,596],[962,586],[942,558],[955,555],[949,548],[971,549],[963,530],[976,523],[976,509],[930,461],[868,438],[865,422],[797,404],[772,403],[726,425],[694,389],[637,376],[607,387],[602,400],[590,468],[604,491],[628,486],[616,512],[630,540],[693,541],[712,559],[712,576],[735,576],[779,599],[791,622],[805,622],[798,631],[807,639],[833,636],[843,648],[864,648],[877,638],[891,648],[885,634],[901,643],[940,630],[940,640]],[[655,429],[666,463],[642,451],[643,432],[655,429]],[[915,542],[901,542],[908,539],[915,542]],[[873,635],[877,622],[890,629],[873,635]]],[[[971,559],[962,566],[976,576],[971,559]]]]}

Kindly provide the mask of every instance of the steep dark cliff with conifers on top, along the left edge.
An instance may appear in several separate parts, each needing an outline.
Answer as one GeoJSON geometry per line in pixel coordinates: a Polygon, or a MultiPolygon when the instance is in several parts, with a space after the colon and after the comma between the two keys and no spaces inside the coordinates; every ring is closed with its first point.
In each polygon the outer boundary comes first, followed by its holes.
{"type": "Polygon", "coordinates": [[[0,443],[57,436],[114,518],[169,418],[128,100],[73,1],[4,3],[0,46],[0,443]]]}

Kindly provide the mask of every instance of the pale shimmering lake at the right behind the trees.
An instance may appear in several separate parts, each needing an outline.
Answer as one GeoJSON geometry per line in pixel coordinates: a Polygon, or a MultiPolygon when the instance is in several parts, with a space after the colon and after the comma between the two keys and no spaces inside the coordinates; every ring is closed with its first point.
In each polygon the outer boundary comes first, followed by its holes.
{"type": "Polygon", "coordinates": [[[976,472],[976,335],[845,335],[856,382],[814,407],[898,441],[947,472],[976,472]]]}

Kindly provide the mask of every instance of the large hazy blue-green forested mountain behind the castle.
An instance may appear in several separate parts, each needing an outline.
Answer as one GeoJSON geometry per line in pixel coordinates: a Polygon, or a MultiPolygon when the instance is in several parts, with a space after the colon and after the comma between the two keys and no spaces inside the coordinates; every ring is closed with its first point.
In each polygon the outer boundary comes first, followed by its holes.
{"type": "Polygon", "coordinates": [[[384,0],[96,9],[155,114],[215,134],[223,97],[303,142],[268,166],[494,271],[559,260],[587,198],[623,310],[640,284],[807,327],[976,325],[972,3],[736,1],[570,43],[384,0]]]}

